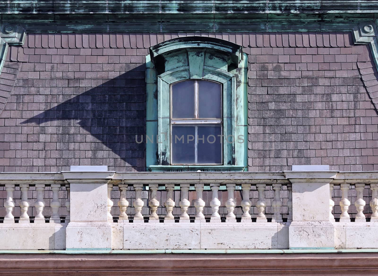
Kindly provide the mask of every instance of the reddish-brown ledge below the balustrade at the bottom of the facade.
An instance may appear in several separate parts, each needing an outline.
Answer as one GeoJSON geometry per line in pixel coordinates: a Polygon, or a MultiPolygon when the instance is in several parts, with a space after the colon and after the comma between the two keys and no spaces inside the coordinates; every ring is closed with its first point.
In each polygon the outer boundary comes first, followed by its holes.
{"type": "Polygon", "coordinates": [[[378,253],[1,254],[0,275],[378,275],[378,253]],[[26,274],[25,274],[26,273],[26,274]]]}

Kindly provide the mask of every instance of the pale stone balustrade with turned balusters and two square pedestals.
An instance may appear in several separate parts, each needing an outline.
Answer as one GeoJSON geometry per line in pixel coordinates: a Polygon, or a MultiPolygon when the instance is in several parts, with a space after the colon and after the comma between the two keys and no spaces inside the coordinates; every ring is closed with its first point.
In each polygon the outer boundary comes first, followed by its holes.
{"type": "Polygon", "coordinates": [[[378,172],[0,173],[0,187],[0,250],[378,248],[378,172]]]}

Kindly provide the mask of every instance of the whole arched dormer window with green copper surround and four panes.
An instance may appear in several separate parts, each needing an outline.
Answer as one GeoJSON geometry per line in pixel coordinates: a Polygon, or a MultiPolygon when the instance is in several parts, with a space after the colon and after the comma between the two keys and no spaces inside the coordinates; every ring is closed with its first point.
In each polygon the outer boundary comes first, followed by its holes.
{"type": "Polygon", "coordinates": [[[247,167],[247,58],[212,37],[179,37],[146,58],[147,170],[247,167]]]}

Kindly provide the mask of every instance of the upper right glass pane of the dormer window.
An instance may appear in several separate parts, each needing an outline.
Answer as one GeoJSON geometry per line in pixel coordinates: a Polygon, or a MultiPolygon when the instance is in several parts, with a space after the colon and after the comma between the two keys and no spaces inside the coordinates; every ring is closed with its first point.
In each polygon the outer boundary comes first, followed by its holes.
{"type": "Polygon", "coordinates": [[[198,117],[222,118],[221,84],[214,81],[198,81],[198,117]]]}

